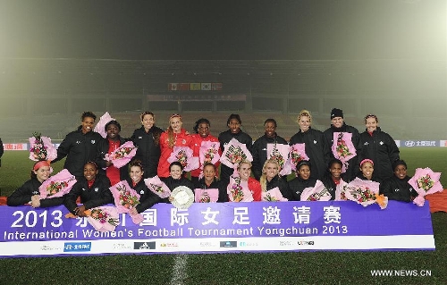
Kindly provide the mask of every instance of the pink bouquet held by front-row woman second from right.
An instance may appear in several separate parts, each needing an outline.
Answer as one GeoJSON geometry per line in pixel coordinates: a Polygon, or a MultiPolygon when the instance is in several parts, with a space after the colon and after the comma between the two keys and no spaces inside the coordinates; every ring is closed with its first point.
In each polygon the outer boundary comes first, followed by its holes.
{"type": "Polygon", "coordinates": [[[379,183],[371,180],[361,180],[356,178],[350,181],[348,185],[344,187],[344,195],[350,200],[357,202],[360,205],[367,206],[377,203],[382,209],[388,205],[388,197],[383,197],[384,203],[379,203],[379,183]]]}

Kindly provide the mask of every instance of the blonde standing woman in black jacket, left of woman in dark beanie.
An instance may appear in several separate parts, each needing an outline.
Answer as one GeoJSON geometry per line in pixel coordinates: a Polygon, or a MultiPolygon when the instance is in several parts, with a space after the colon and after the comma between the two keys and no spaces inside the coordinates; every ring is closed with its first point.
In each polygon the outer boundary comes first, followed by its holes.
{"type": "Polygon", "coordinates": [[[299,131],[291,137],[290,145],[305,144],[306,155],[312,163],[310,176],[321,180],[325,174],[327,163],[331,159],[331,150],[323,132],[312,129],[310,127],[311,123],[312,116],[307,110],[299,112],[299,131]]]}

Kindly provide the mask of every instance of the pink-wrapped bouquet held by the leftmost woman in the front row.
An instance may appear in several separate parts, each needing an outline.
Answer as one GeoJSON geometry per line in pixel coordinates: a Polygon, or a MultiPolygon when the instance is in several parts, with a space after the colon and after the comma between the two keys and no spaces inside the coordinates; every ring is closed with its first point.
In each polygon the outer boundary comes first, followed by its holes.
{"type": "Polygon", "coordinates": [[[63,195],[70,192],[74,183],[76,183],[74,175],[68,170],[63,169],[61,172],[55,174],[55,176],[45,180],[38,188],[38,192],[43,199],[63,197],[63,195]]]}

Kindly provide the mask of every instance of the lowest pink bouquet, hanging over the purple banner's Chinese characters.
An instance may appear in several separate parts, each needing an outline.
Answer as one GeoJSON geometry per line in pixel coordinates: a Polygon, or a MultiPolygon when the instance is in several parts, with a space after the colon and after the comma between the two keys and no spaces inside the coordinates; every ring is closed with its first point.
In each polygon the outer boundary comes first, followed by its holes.
{"type": "Polygon", "coordinates": [[[87,221],[97,231],[114,231],[120,223],[118,211],[114,206],[100,206],[88,210],[87,221]]]}

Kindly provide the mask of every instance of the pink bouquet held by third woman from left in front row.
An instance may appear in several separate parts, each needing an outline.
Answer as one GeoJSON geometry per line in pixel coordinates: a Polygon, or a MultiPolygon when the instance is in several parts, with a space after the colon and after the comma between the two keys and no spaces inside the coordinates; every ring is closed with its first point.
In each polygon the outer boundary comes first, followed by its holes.
{"type": "MultiPolygon", "coordinates": [[[[114,196],[114,205],[118,213],[130,213],[130,209],[139,205],[139,194],[131,189],[126,180],[122,180],[109,188],[114,196]]],[[[133,223],[143,222],[142,214],[130,214],[133,223]]]]}

